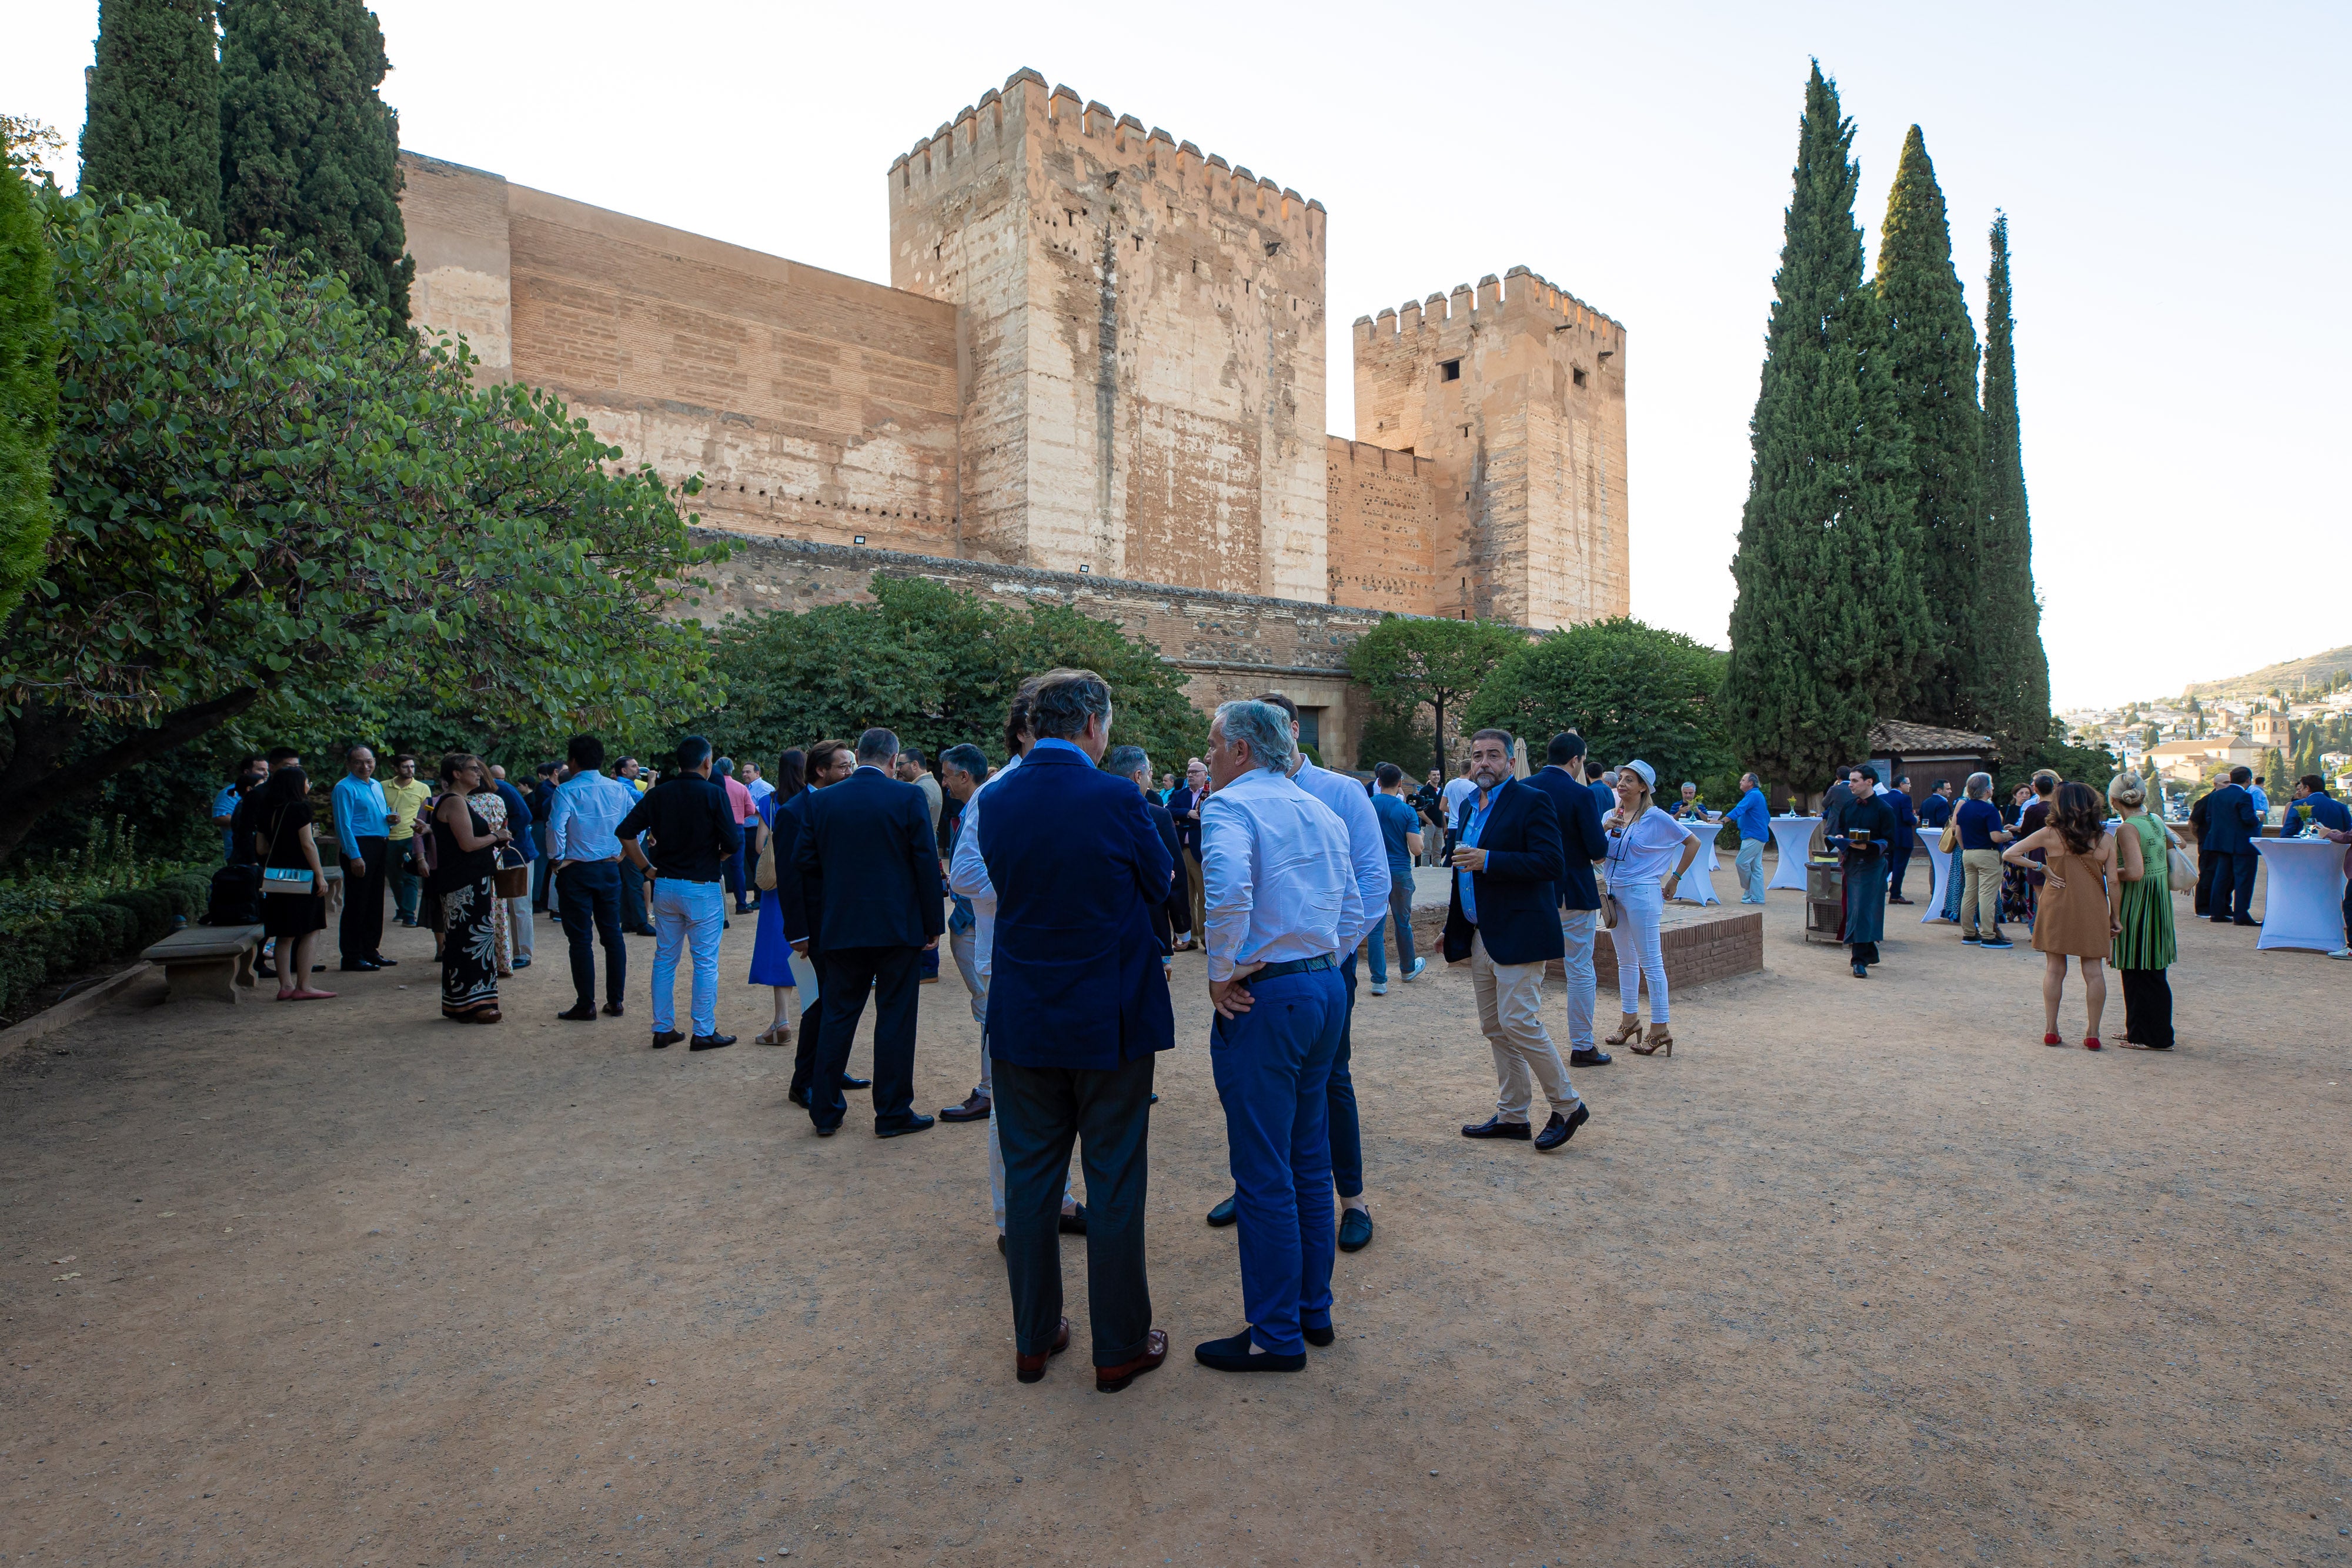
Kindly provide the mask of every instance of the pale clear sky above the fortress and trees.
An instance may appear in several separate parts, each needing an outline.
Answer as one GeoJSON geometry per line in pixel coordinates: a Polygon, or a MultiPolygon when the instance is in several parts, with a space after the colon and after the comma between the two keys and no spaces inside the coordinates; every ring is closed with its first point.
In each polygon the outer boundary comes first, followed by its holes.
{"type": "MultiPolygon", "coordinates": [[[[0,110],[71,143],[96,5],[19,9],[0,110]]],[[[1033,66],[1324,202],[1327,428],[1343,435],[1357,315],[1524,263],[1625,322],[1632,614],[1715,646],[1818,56],[1858,125],[1872,254],[1912,122],[1971,313],[1985,228],[2009,212],[2056,705],[2352,642],[2345,5],[376,14],[402,146],[877,282],[891,158],[1033,66]]]]}

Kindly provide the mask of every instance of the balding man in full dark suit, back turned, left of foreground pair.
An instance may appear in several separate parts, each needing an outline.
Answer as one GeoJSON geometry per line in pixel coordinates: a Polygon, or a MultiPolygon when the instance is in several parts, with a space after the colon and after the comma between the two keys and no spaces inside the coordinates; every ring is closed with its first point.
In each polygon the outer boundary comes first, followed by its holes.
{"type": "Polygon", "coordinates": [[[887,729],[858,736],[856,771],[809,795],[793,851],[807,931],[795,950],[816,952],[826,999],[809,1084],[809,1121],[823,1138],[842,1131],[849,1110],[842,1067],[868,990],[875,994],[875,1138],[931,1126],[915,1110],[915,987],[922,952],[936,950],[948,929],[948,889],[938,879],[931,806],[922,790],[889,776],[896,762],[898,736],[887,729]]]}

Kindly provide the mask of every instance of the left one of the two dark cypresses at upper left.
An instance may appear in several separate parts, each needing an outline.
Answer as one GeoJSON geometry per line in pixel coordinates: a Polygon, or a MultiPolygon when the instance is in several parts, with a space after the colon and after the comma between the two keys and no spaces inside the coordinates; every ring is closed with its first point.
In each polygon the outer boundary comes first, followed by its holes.
{"type": "Polygon", "coordinates": [[[82,193],[143,195],[221,235],[221,61],[212,0],[101,0],[82,193]]]}

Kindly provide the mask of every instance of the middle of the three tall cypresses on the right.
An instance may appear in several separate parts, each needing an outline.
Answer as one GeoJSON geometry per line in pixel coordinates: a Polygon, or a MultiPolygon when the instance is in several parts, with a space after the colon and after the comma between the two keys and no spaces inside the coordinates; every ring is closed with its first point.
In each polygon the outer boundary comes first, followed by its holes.
{"type": "Polygon", "coordinates": [[[1903,717],[1978,724],[1983,635],[1985,440],[1976,407],[1976,329],[1952,270],[1952,226],[1926,136],[1910,127],[1879,228],[1879,303],[1889,371],[1910,425],[1912,527],[1929,644],[1903,717]]]}

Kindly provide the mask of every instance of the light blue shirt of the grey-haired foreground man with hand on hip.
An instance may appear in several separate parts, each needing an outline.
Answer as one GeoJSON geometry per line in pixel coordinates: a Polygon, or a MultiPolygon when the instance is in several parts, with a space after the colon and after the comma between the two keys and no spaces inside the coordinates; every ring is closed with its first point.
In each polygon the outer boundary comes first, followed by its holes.
{"type": "Polygon", "coordinates": [[[1200,851],[1211,980],[1242,964],[1336,959],[1341,933],[1362,926],[1348,825],[1272,769],[1202,802],[1200,851]]]}

